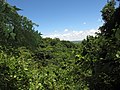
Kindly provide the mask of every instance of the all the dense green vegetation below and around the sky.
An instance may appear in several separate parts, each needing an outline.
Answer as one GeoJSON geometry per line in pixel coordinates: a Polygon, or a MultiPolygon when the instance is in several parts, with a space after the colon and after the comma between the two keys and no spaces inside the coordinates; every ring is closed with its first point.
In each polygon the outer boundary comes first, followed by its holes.
{"type": "Polygon", "coordinates": [[[120,7],[80,43],[42,38],[20,9],[0,1],[0,90],[119,90],[120,7]]]}

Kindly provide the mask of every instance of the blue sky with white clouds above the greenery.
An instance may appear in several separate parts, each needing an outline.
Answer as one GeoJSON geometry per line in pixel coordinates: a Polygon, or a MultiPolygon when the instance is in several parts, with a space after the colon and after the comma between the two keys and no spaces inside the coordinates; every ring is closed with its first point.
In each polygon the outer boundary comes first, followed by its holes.
{"type": "Polygon", "coordinates": [[[78,41],[95,35],[103,24],[101,10],[107,0],[7,0],[18,13],[39,25],[43,37],[78,41]]]}

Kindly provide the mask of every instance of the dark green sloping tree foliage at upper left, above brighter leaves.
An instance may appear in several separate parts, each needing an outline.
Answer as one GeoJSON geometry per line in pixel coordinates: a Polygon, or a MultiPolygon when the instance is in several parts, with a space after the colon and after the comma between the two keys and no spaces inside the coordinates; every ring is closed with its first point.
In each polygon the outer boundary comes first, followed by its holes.
{"type": "Polygon", "coordinates": [[[35,49],[41,37],[31,20],[17,13],[18,8],[0,1],[0,45],[35,49]]]}

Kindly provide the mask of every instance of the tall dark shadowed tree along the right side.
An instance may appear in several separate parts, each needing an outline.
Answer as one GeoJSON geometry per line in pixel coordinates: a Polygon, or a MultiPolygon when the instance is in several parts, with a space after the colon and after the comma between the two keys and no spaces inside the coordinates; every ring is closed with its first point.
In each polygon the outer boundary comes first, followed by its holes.
{"type": "Polygon", "coordinates": [[[120,7],[111,0],[103,8],[104,24],[96,37],[82,41],[80,68],[90,90],[117,90],[120,88],[120,7]],[[91,72],[88,76],[87,74],[91,72]]]}

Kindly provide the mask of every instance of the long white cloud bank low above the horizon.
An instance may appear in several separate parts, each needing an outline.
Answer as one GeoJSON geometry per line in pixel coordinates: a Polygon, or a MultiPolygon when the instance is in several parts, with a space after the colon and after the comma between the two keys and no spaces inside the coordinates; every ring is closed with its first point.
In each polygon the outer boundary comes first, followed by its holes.
{"type": "Polygon", "coordinates": [[[61,40],[69,40],[69,41],[78,41],[83,40],[88,35],[95,36],[95,32],[98,30],[90,29],[90,30],[80,30],[80,31],[70,31],[65,29],[62,33],[53,33],[51,35],[43,36],[43,37],[50,37],[50,38],[60,38],[61,40]]]}

